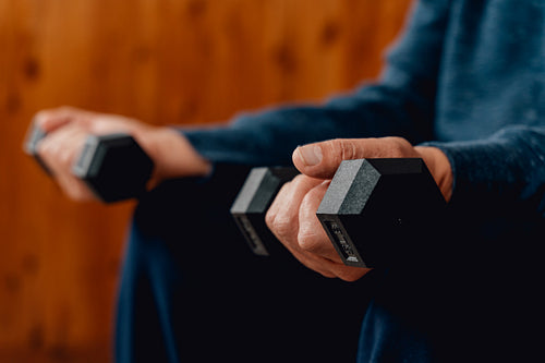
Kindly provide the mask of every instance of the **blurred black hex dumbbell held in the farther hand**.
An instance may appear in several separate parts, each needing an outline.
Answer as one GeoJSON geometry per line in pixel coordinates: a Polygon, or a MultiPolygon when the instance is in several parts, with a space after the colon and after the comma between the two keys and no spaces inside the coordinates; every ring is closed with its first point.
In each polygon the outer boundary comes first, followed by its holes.
{"type": "MultiPolygon", "coordinates": [[[[46,133],[34,126],[24,144],[41,168],[51,174],[37,154],[37,145],[46,133]]],[[[105,203],[138,197],[146,191],[154,162],[128,134],[90,135],[72,167],[72,173],[82,179],[93,193],[105,203]]]]}

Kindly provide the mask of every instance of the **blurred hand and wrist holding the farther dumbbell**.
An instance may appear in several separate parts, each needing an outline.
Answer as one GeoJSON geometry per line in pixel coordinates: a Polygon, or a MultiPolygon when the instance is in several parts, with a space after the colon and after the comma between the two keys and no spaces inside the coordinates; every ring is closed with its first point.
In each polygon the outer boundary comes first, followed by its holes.
{"type": "Polygon", "coordinates": [[[154,160],[153,182],[177,177],[204,176],[210,165],[182,134],[116,116],[89,112],[72,107],[44,110],[34,122],[47,133],[37,145],[38,156],[48,166],[62,191],[74,201],[95,199],[93,193],[72,174],[85,140],[89,135],[126,133],[132,135],[154,160]]]}

